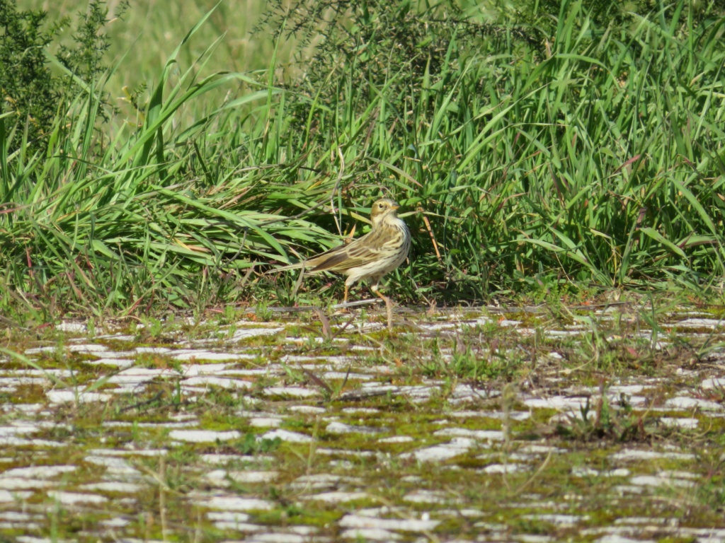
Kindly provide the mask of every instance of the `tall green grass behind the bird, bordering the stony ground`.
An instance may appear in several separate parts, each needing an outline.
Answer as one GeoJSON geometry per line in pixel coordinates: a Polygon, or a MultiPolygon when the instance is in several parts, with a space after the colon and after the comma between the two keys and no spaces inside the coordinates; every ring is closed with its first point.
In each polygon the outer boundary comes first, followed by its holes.
{"type": "MultiPolygon", "coordinates": [[[[718,299],[725,18],[688,6],[604,25],[578,2],[522,4],[523,38],[503,8],[468,12],[464,30],[455,9],[388,7],[416,39],[418,21],[450,21],[431,26],[433,49],[416,42],[427,64],[392,62],[394,34],[334,56],[331,25],[317,60],[289,70],[291,43],[249,37],[250,12],[132,7],[110,26],[112,68],[63,98],[46,151],[13,148],[25,120],[0,116],[0,308],[47,321],[288,305],[294,279],[256,264],[359,235],[381,193],[413,230],[410,266],[388,279],[405,302],[718,299]],[[144,82],[138,109],[100,122],[103,91],[144,82]]],[[[306,279],[297,301],[327,281],[306,279]]]]}

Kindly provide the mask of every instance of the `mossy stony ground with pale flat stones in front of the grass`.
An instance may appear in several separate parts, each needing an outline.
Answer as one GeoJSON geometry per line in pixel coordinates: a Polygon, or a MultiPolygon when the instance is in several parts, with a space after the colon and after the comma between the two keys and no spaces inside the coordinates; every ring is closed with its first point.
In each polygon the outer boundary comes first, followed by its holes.
{"type": "Polygon", "coordinates": [[[0,541],[725,542],[716,311],[262,313],[7,330],[0,541]]]}

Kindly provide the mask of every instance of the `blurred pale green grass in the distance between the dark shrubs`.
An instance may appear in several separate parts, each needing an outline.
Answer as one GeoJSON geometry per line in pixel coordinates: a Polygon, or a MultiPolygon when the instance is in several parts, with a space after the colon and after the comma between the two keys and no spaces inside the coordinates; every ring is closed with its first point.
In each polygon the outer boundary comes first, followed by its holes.
{"type": "MultiPolygon", "coordinates": [[[[59,29],[56,44],[72,43],[73,22],[81,12],[86,12],[88,2],[63,0],[28,0],[22,2],[24,9],[40,9],[48,14],[50,22],[70,19],[59,29]]],[[[186,43],[176,59],[180,66],[192,67],[203,56],[210,44],[218,41],[214,54],[210,56],[199,75],[215,72],[256,72],[268,70],[270,59],[276,53],[275,67],[278,80],[289,77],[294,71],[291,62],[295,40],[283,40],[275,51],[276,42],[271,33],[260,32],[252,36],[254,25],[265,10],[264,1],[189,1],[138,0],[126,4],[121,0],[109,1],[108,24],[102,30],[109,36],[109,47],[105,59],[109,66],[118,65],[106,84],[106,90],[114,106],[126,117],[136,117],[130,108],[124,88],[136,89],[141,85],[158,83],[160,69],[173,53],[188,31],[197,21],[211,11],[206,23],[199,28],[194,40],[186,43]],[[117,17],[117,14],[122,14],[117,17]],[[220,39],[221,38],[221,39],[220,39]]],[[[199,70],[199,67],[196,67],[199,70]]],[[[243,86],[243,85],[242,85],[243,86]]],[[[240,88],[229,86],[215,90],[205,99],[206,105],[219,104],[228,93],[239,93],[240,88]]],[[[204,104],[194,104],[202,109],[204,104]]],[[[193,122],[196,111],[188,111],[193,122]]],[[[181,120],[181,119],[180,119],[181,120]]]]}

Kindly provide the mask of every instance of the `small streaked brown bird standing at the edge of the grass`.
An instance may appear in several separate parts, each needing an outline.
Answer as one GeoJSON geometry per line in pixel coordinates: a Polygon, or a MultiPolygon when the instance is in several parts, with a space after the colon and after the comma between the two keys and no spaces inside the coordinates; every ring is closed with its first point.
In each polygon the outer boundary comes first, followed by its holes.
{"type": "Polygon", "coordinates": [[[370,232],[347,245],[339,245],[329,251],[307,258],[307,260],[281,266],[274,271],[302,268],[313,272],[336,271],[347,275],[345,279],[344,303],[352,285],[361,279],[370,279],[370,290],[385,302],[388,313],[388,329],[393,328],[393,308],[389,297],[378,290],[385,274],[396,269],[407,258],[410,251],[410,230],[399,219],[399,205],[390,198],[381,198],[370,209],[370,232]]]}

